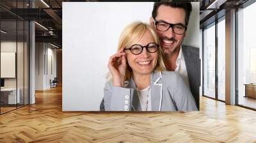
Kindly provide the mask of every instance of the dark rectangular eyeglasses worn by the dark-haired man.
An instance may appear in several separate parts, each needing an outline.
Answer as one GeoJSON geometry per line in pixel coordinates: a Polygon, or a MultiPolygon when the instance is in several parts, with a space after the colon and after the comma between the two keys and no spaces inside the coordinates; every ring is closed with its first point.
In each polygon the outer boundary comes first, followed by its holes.
{"type": "Polygon", "coordinates": [[[161,21],[154,20],[154,23],[158,31],[168,31],[168,29],[172,27],[173,33],[184,34],[185,31],[187,30],[187,27],[182,24],[169,24],[168,22],[165,22],[162,20],[161,21]]]}

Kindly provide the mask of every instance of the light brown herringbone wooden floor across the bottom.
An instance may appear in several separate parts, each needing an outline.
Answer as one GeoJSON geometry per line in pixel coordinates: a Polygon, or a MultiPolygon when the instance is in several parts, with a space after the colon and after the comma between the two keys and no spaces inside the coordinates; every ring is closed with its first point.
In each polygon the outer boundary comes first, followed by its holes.
{"type": "Polygon", "coordinates": [[[200,112],[62,112],[61,88],[0,116],[0,142],[256,142],[256,112],[200,98],[200,112]]]}

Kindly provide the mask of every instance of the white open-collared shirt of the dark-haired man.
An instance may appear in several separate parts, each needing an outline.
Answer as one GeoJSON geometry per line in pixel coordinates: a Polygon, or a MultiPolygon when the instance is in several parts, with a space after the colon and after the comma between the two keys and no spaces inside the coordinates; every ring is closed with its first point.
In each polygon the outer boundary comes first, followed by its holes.
{"type": "MultiPolygon", "coordinates": [[[[176,59],[176,68],[175,68],[175,72],[179,72],[180,77],[182,77],[183,81],[185,82],[185,84],[189,87],[189,80],[188,80],[188,72],[187,72],[187,68],[186,68],[186,63],[185,63],[185,59],[182,53],[182,47],[180,46],[180,51],[179,51],[179,56],[176,59]]],[[[190,89],[190,87],[189,87],[190,89]]]]}

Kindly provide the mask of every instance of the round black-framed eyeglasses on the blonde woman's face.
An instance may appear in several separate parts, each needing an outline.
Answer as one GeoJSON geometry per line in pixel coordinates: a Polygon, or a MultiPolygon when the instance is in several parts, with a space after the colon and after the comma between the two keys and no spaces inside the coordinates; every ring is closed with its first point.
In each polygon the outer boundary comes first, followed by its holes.
{"type": "Polygon", "coordinates": [[[124,50],[131,50],[132,54],[138,55],[141,54],[144,48],[150,53],[154,53],[157,51],[157,48],[159,45],[157,43],[148,43],[146,46],[141,46],[139,44],[134,44],[130,48],[124,49],[124,50]]]}

